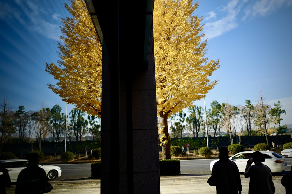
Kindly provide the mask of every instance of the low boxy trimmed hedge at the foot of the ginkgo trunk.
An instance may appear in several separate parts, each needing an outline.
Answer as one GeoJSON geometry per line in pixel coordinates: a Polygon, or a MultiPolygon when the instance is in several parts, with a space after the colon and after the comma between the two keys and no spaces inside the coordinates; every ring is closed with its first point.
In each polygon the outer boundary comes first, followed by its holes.
{"type": "Polygon", "coordinates": [[[159,160],[160,175],[179,175],[180,174],[180,160],[165,159],[159,160]]]}

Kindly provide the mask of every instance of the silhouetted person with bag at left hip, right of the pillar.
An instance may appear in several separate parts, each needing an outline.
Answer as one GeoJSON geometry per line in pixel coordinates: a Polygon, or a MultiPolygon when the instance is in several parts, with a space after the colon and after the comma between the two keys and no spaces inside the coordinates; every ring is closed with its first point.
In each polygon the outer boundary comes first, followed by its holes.
{"type": "Polygon", "coordinates": [[[216,193],[241,193],[241,179],[235,162],[229,160],[228,149],[220,147],[219,161],[215,162],[211,175],[215,181],[216,193]]]}

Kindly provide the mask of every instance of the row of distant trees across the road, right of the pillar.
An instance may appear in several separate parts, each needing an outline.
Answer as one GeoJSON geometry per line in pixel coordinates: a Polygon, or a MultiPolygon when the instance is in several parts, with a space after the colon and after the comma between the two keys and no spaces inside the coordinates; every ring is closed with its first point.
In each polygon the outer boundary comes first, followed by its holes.
{"type": "Polygon", "coordinates": [[[173,138],[183,137],[183,133],[190,133],[192,137],[208,136],[218,137],[227,135],[234,136],[268,136],[270,134],[284,134],[287,125],[281,125],[282,114],[286,114],[281,109],[281,102],[274,103],[274,107],[267,105],[263,95],[260,95],[258,102],[252,104],[251,100],[246,100],[244,106],[232,106],[214,100],[210,104],[211,108],[205,112],[201,106],[190,106],[187,108],[189,116],[183,111],[170,116],[170,130],[173,138]],[[207,124],[205,122],[207,121],[207,124]],[[206,126],[208,131],[206,131],[206,126]],[[238,133],[237,133],[238,132],[238,133]]]}

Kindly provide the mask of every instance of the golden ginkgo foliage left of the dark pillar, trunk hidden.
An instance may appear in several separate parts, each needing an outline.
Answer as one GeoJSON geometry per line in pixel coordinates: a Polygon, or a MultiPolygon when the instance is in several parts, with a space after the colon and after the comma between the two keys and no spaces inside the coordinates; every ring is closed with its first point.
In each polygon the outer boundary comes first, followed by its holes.
{"type": "Polygon", "coordinates": [[[101,116],[102,47],[83,0],[65,3],[70,17],[62,19],[58,65],[46,63],[46,71],[58,80],[49,88],[88,114],[101,116]]]}

